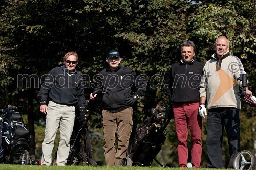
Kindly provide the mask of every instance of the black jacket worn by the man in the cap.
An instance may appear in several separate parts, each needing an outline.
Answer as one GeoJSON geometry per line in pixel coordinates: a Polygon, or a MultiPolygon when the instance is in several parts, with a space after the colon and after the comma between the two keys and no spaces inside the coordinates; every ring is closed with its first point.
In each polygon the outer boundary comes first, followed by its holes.
{"type": "Polygon", "coordinates": [[[115,71],[104,68],[96,77],[97,88],[103,89],[103,109],[116,113],[129,108],[126,103],[135,85],[138,96],[144,95],[147,82],[144,75],[137,75],[132,69],[118,67],[115,71]]]}

